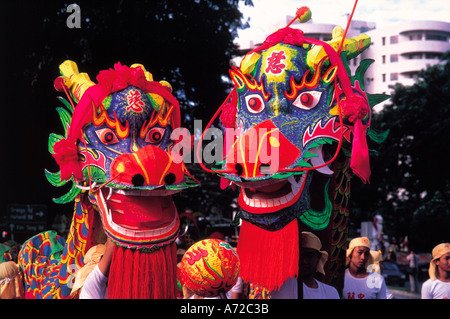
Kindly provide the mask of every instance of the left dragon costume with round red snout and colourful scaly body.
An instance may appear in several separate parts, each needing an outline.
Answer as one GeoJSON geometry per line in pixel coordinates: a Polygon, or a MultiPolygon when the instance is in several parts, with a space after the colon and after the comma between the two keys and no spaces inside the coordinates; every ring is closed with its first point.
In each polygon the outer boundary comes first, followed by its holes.
{"type": "Polygon", "coordinates": [[[171,195],[198,182],[172,152],[180,109],[170,84],[139,64],[117,63],[97,84],[72,61],[60,71],[55,88],[69,99],[57,109],[65,136],[51,134],[49,151],[61,171],[46,176],[54,186],[72,181],[54,201],[75,200],[75,212],[66,240],[50,231],[23,245],[26,296],[76,297],[77,273],[90,267],[80,273],[86,278],[95,268],[87,252],[109,238],[108,298],[175,298],[180,222],[171,195]]]}

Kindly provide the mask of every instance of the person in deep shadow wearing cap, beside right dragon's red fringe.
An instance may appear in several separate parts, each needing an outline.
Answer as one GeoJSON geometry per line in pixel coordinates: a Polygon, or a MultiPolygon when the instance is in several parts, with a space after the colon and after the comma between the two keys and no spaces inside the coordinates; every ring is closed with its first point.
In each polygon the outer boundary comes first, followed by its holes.
{"type": "MultiPolygon", "coordinates": [[[[319,237],[310,232],[302,232],[300,251],[299,280],[303,286],[303,299],[339,299],[336,288],[326,285],[315,278],[316,273],[325,275],[324,265],[328,253],[321,250],[319,237]]],[[[272,291],[273,299],[297,299],[298,283],[289,278],[280,290],[272,291]]]]}

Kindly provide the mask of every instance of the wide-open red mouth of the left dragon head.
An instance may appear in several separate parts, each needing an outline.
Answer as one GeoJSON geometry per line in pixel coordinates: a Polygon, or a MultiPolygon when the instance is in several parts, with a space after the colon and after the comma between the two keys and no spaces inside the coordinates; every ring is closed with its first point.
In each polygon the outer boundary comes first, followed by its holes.
{"type": "Polygon", "coordinates": [[[165,241],[178,232],[178,213],[170,196],[176,192],[105,187],[95,198],[105,231],[113,239],[146,245],[165,241]]]}

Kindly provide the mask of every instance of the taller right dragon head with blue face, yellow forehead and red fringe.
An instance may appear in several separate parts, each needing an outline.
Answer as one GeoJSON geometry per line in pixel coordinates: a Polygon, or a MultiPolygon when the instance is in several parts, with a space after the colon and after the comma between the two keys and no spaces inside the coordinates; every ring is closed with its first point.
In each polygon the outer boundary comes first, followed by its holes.
{"type": "MultiPolygon", "coordinates": [[[[310,16],[306,7],[296,14],[310,16]]],[[[366,134],[381,137],[369,128],[371,107],[388,98],[364,91],[372,60],[348,74],[347,60],[370,45],[368,36],[346,39],[336,27],[323,42],[290,24],[230,70],[234,89],[205,129],[220,114],[224,161],[200,161],[223,187],[240,188],[238,251],[251,298],[270,298],[297,278],[302,231],[320,238],[330,257],[324,282],[341,291],[351,172],[368,182],[366,134]]]]}

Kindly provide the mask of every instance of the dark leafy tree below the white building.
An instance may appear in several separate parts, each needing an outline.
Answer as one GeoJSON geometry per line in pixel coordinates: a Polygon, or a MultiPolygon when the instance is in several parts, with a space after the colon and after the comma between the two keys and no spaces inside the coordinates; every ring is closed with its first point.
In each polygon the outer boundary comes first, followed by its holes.
{"type": "Polygon", "coordinates": [[[397,84],[392,104],[374,114],[372,127],[389,136],[372,145],[378,152],[371,184],[352,185],[357,219],[380,213],[387,233],[408,235],[422,251],[450,237],[450,52],[441,60],[420,71],[414,85],[397,84]]]}

